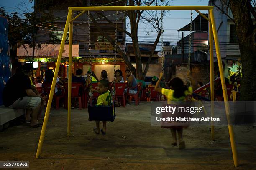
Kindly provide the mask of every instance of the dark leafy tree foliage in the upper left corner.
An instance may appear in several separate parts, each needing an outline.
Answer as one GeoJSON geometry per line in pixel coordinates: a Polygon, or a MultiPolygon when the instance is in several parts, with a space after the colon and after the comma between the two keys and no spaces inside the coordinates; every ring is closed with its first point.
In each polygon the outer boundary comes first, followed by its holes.
{"type": "MultiPolygon", "coordinates": [[[[18,9],[23,12],[22,14],[18,12],[7,13],[5,9],[1,7],[0,15],[8,19],[8,39],[11,53],[13,52],[13,54],[15,54],[17,48],[24,47],[27,51],[28,60],[33,61],[35,49],[41,47],[41,44],[36,42],[38,30],[40,28],[51,28],[54,30],[54,26],[52,22],[47,22],[47,20],[53,18],[51,14],[44,13],[43,15],[39,15],[39,13],[31,11],[31,9],[28,8],[28,3],[32,3],[32,1],[27,2],[24,0],[18,5],[18,9]],[[29,44],[29,48],[32,48],[32,56],[28,55],[28,47],[26,44],[29,44]]],[[[35,11],[39,12],[40,9],[35,11]]],[[[55,40],[54,38],[54,35],[52,35],[51,41],[55,40]]]]}

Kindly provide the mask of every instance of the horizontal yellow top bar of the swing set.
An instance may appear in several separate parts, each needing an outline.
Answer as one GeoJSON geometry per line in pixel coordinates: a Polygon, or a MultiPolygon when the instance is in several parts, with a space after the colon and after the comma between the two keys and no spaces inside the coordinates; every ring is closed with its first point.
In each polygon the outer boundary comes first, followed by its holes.
{"type": "Polygon", "coordinates": [[[108,6],[69,7],[73,11],[122,11],[122,10],[210,10],[213,6],[108,6]]]}

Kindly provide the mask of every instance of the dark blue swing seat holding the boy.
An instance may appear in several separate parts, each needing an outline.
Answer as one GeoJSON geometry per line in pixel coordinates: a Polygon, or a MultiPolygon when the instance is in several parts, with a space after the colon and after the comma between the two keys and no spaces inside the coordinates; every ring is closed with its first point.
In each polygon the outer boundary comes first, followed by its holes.
{"type": "Polygon", "coordinates": [[[115,120],[115,105],[114,106],[88,106],[89,121],[108,121],[115,120]],[[113,109],[114,107],[114,109],[113,109]],[[114,114],[113,114],[114,110],[114,114]]]}

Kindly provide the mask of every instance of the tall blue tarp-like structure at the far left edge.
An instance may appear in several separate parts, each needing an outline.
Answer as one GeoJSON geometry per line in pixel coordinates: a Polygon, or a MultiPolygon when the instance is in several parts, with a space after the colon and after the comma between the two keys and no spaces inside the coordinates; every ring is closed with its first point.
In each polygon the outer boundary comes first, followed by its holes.
{"type": "Polygon", "coordinates": [[[11,76],[11,70],[8,23],[6,18],[0,16],[0,105],[3,105],[3,88],[11,76]]]}

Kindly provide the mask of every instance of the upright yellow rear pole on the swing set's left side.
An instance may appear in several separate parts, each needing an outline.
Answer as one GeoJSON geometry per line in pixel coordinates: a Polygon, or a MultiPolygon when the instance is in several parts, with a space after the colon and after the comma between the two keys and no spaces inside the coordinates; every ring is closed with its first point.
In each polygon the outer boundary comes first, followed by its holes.
{"type": "MultiPolygon", "coordinates": [[[[73,13],[71,18],[73,17],[73,13]]],[[[73,41],[73,22],[69,23],[69,73],[68,73],[68,122],[67,135],[70,136],[70,118],[71,118],[71,71],[72,71],[72,41],[73,41]]]]}

